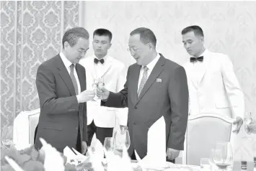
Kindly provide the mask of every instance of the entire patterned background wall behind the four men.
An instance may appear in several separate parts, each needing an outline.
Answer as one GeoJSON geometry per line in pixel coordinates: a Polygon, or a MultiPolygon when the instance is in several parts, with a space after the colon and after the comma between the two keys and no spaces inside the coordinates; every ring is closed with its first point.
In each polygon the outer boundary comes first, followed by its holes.
{"type": "Polygon", "coordinates": [[[1,127],[12,124],[20,111],[39,107],[37,67],[58,53],[63,32],[77,25],[91,33],[91,40],[94,29],[110,29],[110,55],[128,68],[135,62],[126,50],[133,29],[152,29],[157,50],[182,64],[189,56],[180,32],[198,24],[206,47],[231,58],[246,109],[255,114],[255,23],[255,1],[1,1],[1,127]]]}

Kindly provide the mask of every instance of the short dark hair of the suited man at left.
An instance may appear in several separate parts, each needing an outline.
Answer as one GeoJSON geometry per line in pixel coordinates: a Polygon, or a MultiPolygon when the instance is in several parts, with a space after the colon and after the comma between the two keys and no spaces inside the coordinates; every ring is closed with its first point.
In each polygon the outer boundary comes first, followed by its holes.
{"type": "Polygon", "coordinates": [[[69,42],[71,47],[76,45],[79,38],[84,38],[89,40],[89,33],[83,27],[74,27],[72,29],[68,29],[62,38],[62,47],[64,48],[64,42],[69,42]]]}

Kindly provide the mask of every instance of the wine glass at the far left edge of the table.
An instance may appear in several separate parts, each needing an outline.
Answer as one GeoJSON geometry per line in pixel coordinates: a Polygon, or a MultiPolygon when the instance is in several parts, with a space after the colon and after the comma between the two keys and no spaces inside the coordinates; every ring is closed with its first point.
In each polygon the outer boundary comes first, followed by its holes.
{"type": "Polygon", "coordinates": [[[6,149],[10,149],[13,144],[13,126],[6,125],[1,131],[1,143],[6,149]]]}

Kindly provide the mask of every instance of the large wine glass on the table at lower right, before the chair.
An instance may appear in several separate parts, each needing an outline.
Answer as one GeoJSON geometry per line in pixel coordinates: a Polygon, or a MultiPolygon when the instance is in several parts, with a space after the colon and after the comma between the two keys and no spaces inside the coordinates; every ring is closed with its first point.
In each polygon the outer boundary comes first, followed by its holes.
{"type": "Polygon", "coordinates": [[[213,162],[219,169],[226,170],[232,165],[233,154],[230,142],[217,142],[213,162]]]}

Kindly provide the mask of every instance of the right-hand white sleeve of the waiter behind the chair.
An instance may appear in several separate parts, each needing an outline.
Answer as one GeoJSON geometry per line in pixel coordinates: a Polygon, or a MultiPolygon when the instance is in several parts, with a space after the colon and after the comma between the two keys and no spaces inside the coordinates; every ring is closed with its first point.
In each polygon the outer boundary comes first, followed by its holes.
{"type": "Polygon", "coordinates": [[[244,93],[242,92],[237,76],[234,73],[233,64],[229,56],[224,55],[221,58],[221,74],[224,80],[229,103],[231,104],[233,117],[240,116],[244,118],[244,93]]]}

